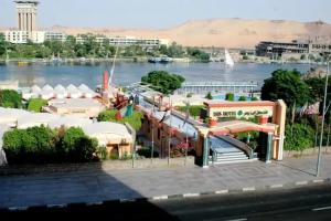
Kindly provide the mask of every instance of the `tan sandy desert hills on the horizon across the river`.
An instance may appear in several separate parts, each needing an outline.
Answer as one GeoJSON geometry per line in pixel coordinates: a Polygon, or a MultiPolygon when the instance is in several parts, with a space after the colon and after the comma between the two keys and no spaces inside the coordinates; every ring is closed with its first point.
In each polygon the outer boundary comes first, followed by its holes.
{"type": "MultiPolygon", "coordinates": [[[[68,34],[99,33],[107,35],[131,35],[164,38],[186,46],[254,48],[259,41],[331,40],[331,25],[321,21],[270,21],[245,19],[191,20],[181,25],[163,30],[67,28],[52,30],[68,34]]],[[[331,41],[330,41],[331,42],[331,41]]]]}

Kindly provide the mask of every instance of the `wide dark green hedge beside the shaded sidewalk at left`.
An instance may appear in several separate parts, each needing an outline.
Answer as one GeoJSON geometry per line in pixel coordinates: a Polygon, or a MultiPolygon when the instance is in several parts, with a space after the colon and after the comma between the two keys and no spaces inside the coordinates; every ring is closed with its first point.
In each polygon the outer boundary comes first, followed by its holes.
{"type": "Polygon", "coordinates": [[[93,161],[97,146],[97,140],[74,127],[52,130],[41,126],[13,129],[3,135],[3,149],[9,164],[93,161]]]}

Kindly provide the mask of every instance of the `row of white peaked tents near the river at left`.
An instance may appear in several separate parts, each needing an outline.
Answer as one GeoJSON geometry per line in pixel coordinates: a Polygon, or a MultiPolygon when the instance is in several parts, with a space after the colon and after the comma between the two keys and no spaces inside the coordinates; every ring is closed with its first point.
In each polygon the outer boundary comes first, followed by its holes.
{"type": "Polygon", "coordinates": [[[32,87],[22,91],[23,99],[30,98],[43,98],[43,99],[51,99],[51,98],[93,98],[98,96],[93,90],[90,90],[85,84],[81,84],[76,87],[73,84],[70,84],[67,87],[64,87],[61,84],[57,84],[55,87],[46,84],[43,87],[38,85],[33,85],[32,87]]]}

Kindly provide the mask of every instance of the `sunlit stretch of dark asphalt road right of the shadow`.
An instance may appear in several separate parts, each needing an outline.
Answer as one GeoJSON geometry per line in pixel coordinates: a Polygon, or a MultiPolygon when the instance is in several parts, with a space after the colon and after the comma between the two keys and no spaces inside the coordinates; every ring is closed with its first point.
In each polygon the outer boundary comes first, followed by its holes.
{"type": "Polygon", "coordinates": [[[331,220],[331,186],[160,201],[180,220],[331,220]]]}

